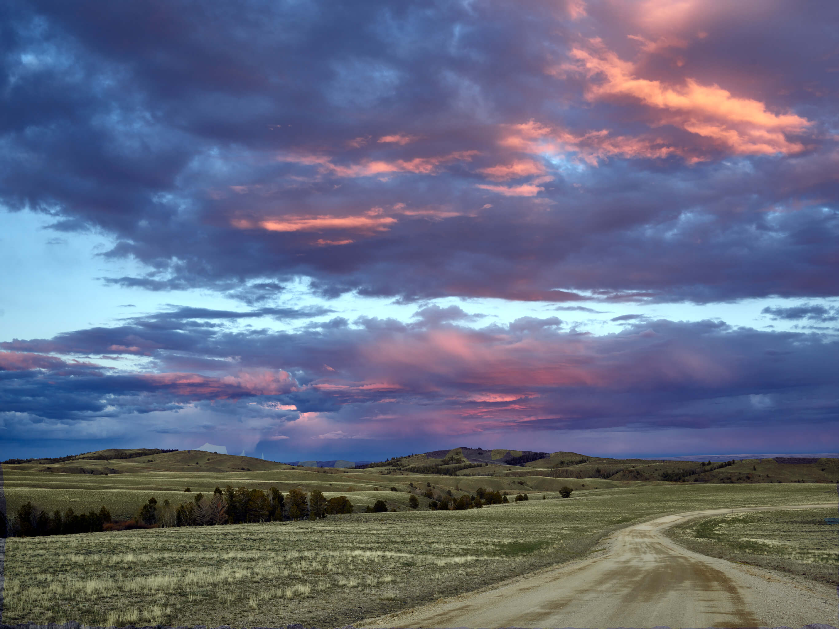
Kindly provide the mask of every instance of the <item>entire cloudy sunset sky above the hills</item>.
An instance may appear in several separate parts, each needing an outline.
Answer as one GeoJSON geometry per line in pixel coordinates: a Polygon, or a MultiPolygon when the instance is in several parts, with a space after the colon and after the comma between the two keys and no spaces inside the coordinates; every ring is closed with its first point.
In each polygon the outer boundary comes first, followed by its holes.
{"type": "Polygon", "coordinates": [[[0,4],[0,457],[839,451],[839,4],[0,4]]]}

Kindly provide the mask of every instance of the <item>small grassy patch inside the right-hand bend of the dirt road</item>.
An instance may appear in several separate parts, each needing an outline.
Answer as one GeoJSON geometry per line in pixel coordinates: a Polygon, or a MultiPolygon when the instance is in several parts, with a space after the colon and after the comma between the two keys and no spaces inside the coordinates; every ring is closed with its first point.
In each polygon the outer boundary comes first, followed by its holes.
{"type": "Polygon", "coordinates": [[[826,517],[836,509],[737,513],[686,522],[669,534],[697,553],[836,585],[839,531],[826,517]]]}

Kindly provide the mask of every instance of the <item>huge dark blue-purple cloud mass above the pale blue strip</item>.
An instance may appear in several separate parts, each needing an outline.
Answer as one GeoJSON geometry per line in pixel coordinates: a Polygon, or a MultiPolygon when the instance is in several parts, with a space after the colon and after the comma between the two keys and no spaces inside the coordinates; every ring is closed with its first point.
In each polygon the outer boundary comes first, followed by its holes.
{"type": "Polygon", "coordinates": [[[300,275],[403,300],[839,289],[836,3],[0,11],[0,195],[149,265],[111,283],[251,307],[300,275]]]}

